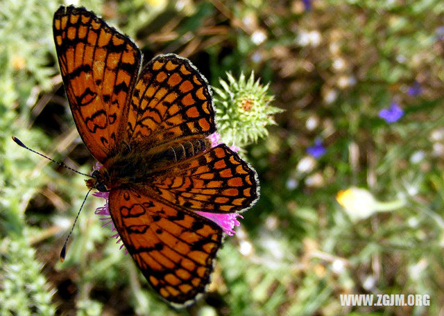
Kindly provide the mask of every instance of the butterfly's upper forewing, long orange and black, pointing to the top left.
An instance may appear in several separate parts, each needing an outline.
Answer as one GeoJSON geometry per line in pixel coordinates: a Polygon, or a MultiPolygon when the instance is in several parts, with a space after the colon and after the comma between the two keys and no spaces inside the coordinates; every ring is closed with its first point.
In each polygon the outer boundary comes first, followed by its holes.
{"type": "Polygon", "coordinates": [[[121,145],[142,55],[128,37],[85,8],[60,7],[53,33],[78,132],[103,163],[121,145]]]}

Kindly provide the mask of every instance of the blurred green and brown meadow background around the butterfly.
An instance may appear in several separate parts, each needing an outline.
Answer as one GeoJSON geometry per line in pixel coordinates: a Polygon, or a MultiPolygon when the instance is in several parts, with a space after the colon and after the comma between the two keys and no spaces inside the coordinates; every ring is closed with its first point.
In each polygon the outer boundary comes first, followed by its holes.
{"type": "MultiPolygon", "coordinates": [[[[1,315],[444,315],[443,54],[439,0],[2,0],[1,315]],[[61,4],[101,15],[145,60],[189,58],[221,93],[247,89],[242,72],[260,78],[251,103],[215,94],[219,119],[242,107],[256,123],[237,145],[262,195],[185,310],[157,299],[101,228],[101,199],[88,198],[59,261],[84,177],[11,136],[94,166],[56,62],[61,4]],[[341,294],[427,294],[430,306],[341,306],[341,294]]],[[[225,140],[236,119],[219,122],[225,140]]]]}

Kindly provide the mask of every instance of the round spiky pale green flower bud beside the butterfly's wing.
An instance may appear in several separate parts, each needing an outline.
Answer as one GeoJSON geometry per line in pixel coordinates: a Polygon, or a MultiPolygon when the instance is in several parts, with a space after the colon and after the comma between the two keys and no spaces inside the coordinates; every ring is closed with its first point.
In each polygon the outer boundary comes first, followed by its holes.
{"type": "Polygon", "coordinates": [[[275,124],[273,114],[282,109],[270,105],[274,96],[268,94],[269,85],[261,85],[259,79],[255,81],[253,71],[248,80],[244,73],[239,80],[231,73],[227,76],[228,81],[219,80],[221,88],[213,88],[216,121],[223,142],[242,147],[266,136],[266,126],[275,124]]]}

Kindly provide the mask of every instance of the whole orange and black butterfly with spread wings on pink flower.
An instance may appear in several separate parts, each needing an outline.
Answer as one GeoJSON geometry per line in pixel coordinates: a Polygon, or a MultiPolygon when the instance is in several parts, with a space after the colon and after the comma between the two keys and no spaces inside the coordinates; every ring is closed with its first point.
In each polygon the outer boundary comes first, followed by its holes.
{"type": "Polygon", "coordinates": [[[88,188],[148,283],[172,306],[210,282],[223,230],[196,211],[235,213],[259,198],[257,174],[216,132],[207,80],[186,58],[142,52],[94,12],[61,6],[53,35],[74,122],[103,165],[88,188]]]}

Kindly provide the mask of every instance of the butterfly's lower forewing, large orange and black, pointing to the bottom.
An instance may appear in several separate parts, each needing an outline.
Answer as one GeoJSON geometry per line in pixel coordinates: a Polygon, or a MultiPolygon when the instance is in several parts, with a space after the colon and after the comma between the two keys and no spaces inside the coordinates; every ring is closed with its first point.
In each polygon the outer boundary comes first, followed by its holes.
{"type": "Polygon", "coordinates": [[[205,292],[222,231],[198,214],[139,189],[110,192],[114,225],[137,267],[169,304],[185,306],[205,292]]]}

